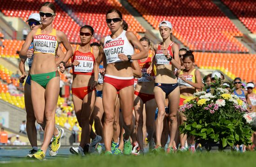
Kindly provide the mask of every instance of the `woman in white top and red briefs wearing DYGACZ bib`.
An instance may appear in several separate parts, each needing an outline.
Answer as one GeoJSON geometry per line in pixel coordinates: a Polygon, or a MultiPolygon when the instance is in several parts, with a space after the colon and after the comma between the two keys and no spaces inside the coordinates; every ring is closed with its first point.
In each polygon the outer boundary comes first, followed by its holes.
{"type": "MultiPolygon", "coordinates": [[[[111,35],[101,39],[104,50],[104,63],[107,65],[103,83],[103,108],[105,122],[103,127],[105,154],[111,153],[113,138],[113,123],[115,119],[115,99],[119,91],[121,110],[125,128],[124,154],[131,154],[132,145],[130,135],[134,124],[132,108],[134,101],[134,76],[131,60],[146,58],[147,53],[133,32],[122,29],[122,14],[116,9],[108,11],[106,21],[111,35]],[[141,52],[134,54],[134,46],[141,52]]],[[[98,63],[97,63],[98,64],[98,63]]],[[[97,75],[95,75],[97,77],[97,75]]],[[[95,78],[96,79],[96,78],[95,78]]]]}

